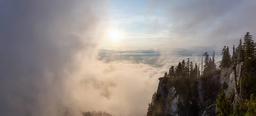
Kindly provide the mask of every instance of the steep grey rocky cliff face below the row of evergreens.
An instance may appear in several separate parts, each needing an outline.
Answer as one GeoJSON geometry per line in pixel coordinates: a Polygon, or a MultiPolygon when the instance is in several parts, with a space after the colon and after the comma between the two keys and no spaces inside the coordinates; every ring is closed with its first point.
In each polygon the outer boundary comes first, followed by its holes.
{"type": "MultiPolygon", "coordinates": [[[[242,65],[241,62],[236,67],[239,77],[242,65]]],[[[233,76],[230,66],[196,81],[160,77],[152,116],[215,116],[215,100],[221,92],[221,85],[227,83],[224,91],[229,95],[234,87],[233,76]]]]}

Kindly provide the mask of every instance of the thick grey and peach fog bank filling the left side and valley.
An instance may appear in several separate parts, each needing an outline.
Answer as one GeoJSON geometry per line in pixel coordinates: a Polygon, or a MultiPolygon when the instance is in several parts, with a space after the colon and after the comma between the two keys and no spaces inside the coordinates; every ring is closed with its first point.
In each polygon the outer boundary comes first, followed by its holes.
{"type": "Polygon", "coordinates": [[[1,116],[80,116],[90,110],[144,115],[158,78],[187,59],[172,51],[139,61],[100,58],[109,26],[104,0],[0,4],[1,116]]]}

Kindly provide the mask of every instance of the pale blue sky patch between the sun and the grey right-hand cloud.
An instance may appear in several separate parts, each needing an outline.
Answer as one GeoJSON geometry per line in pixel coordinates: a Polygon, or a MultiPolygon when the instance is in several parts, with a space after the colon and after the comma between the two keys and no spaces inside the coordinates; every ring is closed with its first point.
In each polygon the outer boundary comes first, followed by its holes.
{"type": "Polygon", "coordinates": [[[168,26],[155,30],[158,24],[166,22],[166,12],[158,8],[149,9],[151,4],[148,0],[110,0],[108,4],[111,26],[124,30],[126,34],[125,39],[115,45],[106,42],[102,47],[148,49],[157,47],[157,42],[169,39],[168,26]]]}

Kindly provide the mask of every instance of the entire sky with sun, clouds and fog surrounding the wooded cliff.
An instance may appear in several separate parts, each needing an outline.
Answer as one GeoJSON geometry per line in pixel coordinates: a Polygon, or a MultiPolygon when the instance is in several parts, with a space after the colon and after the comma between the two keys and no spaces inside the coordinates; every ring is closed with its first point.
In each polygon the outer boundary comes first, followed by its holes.
{"type": "Polygon", "coordinates": [[[172,65],[256,34],[255,0],[0,0],[0,114],[143,116],[172,65]]]}

